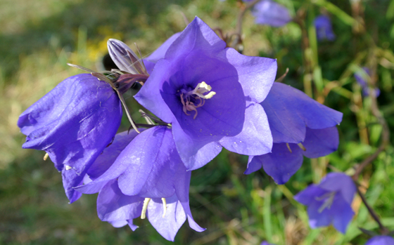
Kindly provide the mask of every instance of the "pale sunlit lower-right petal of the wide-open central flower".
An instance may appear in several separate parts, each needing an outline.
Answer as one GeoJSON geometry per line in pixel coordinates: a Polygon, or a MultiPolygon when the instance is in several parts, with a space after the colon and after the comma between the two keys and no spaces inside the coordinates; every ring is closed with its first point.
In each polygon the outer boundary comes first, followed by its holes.
{"type": "Polygon", "coordinates": [[[241,133],[222,138],[220,145],[231,152],[249,156],[271,152],[272,135],[269,131],[267,115],[261,105],[249,102],[241,133]]]}

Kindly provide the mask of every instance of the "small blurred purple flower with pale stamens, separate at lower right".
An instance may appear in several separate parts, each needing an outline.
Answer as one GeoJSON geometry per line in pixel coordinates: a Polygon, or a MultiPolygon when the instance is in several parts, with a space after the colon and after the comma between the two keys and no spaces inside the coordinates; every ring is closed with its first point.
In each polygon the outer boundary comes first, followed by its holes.
{"type": "Polygon", "coordinates": [[[351,204],[355,192],[352,178],[344,173],[329,173],[319,185],[310,185],[294,199],[307,206],[310,227],[332,224],[345,233],[354,215],[351,204]]]}

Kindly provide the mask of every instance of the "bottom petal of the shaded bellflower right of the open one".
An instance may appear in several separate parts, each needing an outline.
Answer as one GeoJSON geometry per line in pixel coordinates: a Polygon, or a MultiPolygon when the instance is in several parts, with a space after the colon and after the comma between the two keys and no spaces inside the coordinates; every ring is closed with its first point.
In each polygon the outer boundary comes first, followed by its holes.
{"type": "MultiPolygon", "coordinates": [[[[288,144],[291,152],[285,143],[274,143],[272,153],[253,157],[250,167],[262,165],[265,173],[271,176],[275,183],[283,185],[295,172],[303,165],[303,151],[295,144],[288,144]]],[[[251,170],[246,172],[251,173],[251,170]]]]}

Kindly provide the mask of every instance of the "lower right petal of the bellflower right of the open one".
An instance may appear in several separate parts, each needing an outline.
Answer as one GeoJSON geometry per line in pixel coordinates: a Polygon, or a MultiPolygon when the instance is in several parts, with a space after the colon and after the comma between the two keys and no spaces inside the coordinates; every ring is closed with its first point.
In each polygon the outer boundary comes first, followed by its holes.
{"type": "Polygon", "coordinates": [[[338,149],[339,136],[336,126],[323,129],[307,128],[303,146],[306,151],[305,157],[317,158],[324,157],[338,149]]]}

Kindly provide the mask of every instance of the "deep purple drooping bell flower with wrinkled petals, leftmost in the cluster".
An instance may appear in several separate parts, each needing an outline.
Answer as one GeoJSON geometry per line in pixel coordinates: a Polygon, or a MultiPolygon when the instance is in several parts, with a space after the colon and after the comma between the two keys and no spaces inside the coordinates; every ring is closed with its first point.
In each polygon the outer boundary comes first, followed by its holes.
{"type": "Polygon", "coordinates": [[[115,136],[122,105],[113,88],[91,74],[62,81],[23,112],[18,120],[25,134],[23,148],[44,150],[62,172],[70,202],[81,194],[87,169],[115,136]]]}

